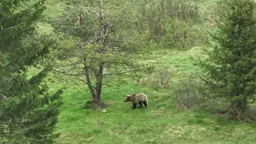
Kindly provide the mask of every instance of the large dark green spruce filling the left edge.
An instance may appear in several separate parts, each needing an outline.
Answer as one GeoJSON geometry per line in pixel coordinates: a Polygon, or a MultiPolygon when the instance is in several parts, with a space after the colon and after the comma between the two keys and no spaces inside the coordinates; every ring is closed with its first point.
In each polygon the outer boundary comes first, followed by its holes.
{"type": "Polygon", "coordinates": [[[44,0],[0,1],[0,142],[52,143],[61,106],[58,90],[44,82],[51,66],[40,66],[52,42],[36,33],[44,0]],[[28,72],[41,67],[31,78],[28,72]]]}

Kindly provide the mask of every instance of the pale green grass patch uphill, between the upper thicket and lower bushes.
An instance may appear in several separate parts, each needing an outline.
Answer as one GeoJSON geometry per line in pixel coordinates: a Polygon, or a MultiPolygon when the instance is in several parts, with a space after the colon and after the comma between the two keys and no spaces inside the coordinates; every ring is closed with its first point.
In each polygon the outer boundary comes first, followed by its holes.
{"type": "Polygon", "coordinates": [[[143,61],[157,68],[168,68],[174,73],[174,80],[184,76],[197,74],[200,70],[195,66],[199,57],[202,57],[202,47],[194,46],[190,50],[154,50],[143,61]]]}

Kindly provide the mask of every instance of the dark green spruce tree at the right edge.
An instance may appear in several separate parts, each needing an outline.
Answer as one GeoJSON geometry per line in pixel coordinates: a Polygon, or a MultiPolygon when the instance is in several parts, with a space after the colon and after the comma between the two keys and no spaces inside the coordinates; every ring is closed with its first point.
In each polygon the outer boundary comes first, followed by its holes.
{"type": "Polygon", "coordinates": [[[218,27],[211,34],[214,49],[201,63],[204,80],[214,96],[230,103],[234,114],[256,98],[256,18],[254,0],[222,0],[218,27]]]}

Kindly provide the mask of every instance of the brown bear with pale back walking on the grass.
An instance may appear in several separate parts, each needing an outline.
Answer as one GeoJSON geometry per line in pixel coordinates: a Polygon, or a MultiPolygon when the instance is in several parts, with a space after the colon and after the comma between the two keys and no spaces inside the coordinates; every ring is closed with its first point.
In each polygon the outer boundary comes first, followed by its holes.
{"type": "Polygon", "coordinates": [[[133,109],[136,109],[137,103],[139,103],[139,107],[142,107],[142,103],[145,106],[148,105],[147,96],[144,93],[127,95],[126,100],[124,102],[133,102],[133,109]]]}

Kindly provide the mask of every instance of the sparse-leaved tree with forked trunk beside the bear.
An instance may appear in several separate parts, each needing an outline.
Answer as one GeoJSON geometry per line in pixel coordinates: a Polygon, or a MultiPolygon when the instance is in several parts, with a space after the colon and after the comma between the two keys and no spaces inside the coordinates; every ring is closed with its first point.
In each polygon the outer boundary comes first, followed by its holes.
{"type": "Polygon", "coordinates": [[[94,104],[101,103],[103,79],[143,69],[134,61],[144,50],[143,36],[128,22],[129,12],[130,2],[76,1],[54,22],[61,35],[56,71],[86,82],[94,104]]]}

